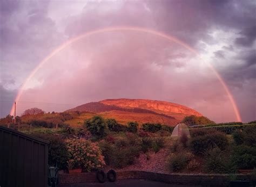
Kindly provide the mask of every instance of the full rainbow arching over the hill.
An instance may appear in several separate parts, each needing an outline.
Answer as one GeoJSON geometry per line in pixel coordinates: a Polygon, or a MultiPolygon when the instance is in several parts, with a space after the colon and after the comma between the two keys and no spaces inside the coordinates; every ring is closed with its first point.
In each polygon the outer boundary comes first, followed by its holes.
{"type": "MultiPolygon", "coordinates": [[[[99,29],[99,30],[94,30],[94,31],[90,31],[90,32],[86,32],[84,34],[81,34],[81,35],[78,35],[77,37],[75,38],[71,38],[69,39],[68,41],[64,42],[64,44],[60,45],[59,47],[57,47],[54,51],[52,51],[48,56],[46,56],[39,64],[38,66],[33,69],[33,71],[30,73],[30,75],[28,76],[28,78],[26,78],[25,82],[22,84],[22,87],[21,89],[19,89],[18,91],[18,94],[16,96],[16,102],[18,102],[19,98],[21,97],[22,93],[23,93],[23,90],[26,86],[26,84],[30,81],[30,79],[37,73],[37,71],[42,68],[42,66],[49,60],[51,59],[52,56],[54,56],[56,53],[62,51],[62,49],[64,49],[65,47],[73,44],[74,42],[80,40],[80,39],[83,39],[85,37],[89,37],[93,34],[100,34],[100,33],[104,33],[104,32],[112,32],[112,31],[136,31],[136,32],[143,32],[143,33],[149,33],[149,34],[153,34],[153,35],[156,35],[158,37],[161,37],[161,38],[164,38],[168,41],[171,41],[171,42],[175,42],[176,44],[179,44],[181,46],[183,46],[184,48],[188,49],[189,51],[191,51],[192,53],[196,54],[199,56],[199,53],[194,50],[192,47],[188,46],[185,42],[177,39],[177,38],[174,38],[170,35],[167,35],[165,33],[161,33],[161,32],[158,32],[158,31],[154,31],[154,30],[150,30],[148,28],[141,28],[141,27],[127,27],[127,26],[118,26],[118,27],[107,27],[107,28],[102,28],[102,29],[99,29]]],[[[201,59],[203,61],[203,59],[201,59]]],[[[230,92],[230,90],[228,89],[226,83],[224,82],[223,78],[219,75],[219,73],[217,72],[217,70],[214,69],[214,67],[212,66],[212,64],[210,63],[207,63],[208,66],[212,69],[213,73],[217,76],[220,84],[223,86],[227,96],[228,96],[228,99],[230,99],[230,102],[233,106],[233,110],[234,110],[234,113],[235,113],[235,116],[237,118],[237,121],[241,121],[241,116],[240,116],[240,113],[239,113],[239,110],[238,110],[238,107],[237,107],[237,104],[235,103],[235,100],[230,92]]],[[[10,111],[10,115],[14,114],[14,105],[12,106],[12,109],[10,111]]]]}

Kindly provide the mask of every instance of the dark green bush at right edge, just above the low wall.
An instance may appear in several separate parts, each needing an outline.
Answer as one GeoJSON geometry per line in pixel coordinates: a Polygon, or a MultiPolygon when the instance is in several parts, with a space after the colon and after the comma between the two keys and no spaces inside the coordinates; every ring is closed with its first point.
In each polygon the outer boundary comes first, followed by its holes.
{"type": "Polygon", "coordinates": [[[246,145],[234,147],[232,161],[240,169],[253,169],[256,167],[256,148],[246,145]]]}

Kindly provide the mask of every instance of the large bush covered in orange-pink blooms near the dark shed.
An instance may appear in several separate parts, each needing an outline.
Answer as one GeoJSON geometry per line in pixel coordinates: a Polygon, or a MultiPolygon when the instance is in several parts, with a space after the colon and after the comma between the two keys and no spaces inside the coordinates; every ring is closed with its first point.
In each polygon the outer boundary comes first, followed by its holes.
{"type": "Polygon", "coordinates": [[[104,156],[97,143],[85,139],[66,140],[68,167],[84,168],[86,171],[103,168],[104,156]]]}

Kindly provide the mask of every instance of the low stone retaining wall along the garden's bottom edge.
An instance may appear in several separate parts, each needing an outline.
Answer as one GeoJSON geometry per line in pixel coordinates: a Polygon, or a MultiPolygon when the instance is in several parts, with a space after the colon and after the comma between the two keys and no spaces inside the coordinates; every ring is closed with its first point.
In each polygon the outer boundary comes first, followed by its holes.
{"type": "MultiPolygon", "coordinates": [[[[250,179],[249,175],[237,175],[238,179],[250,179]]],[[[228,175],[204,174],[163,174],[149,171],[117,171],[117,180],[145,179],[170,184],[202,185],[202,186],[229,186],[228,175]]],[[[98,182],[95,172],[80,174],[59,174],[60,184],[98,182]]]]}

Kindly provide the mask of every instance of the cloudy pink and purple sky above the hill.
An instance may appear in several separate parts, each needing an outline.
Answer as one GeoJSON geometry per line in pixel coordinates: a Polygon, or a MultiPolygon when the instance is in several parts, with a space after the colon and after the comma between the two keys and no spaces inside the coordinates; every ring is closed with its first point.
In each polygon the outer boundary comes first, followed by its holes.
{"type": "Polygon", "coordinates": [[[62,112],[108,98],[165,100],[216,121],[256,119],[255,1],[1,1],[0,117],[62,112]],[[139,27],[159,35],[104,28],[139,27]],[[209,66],[210,64],[210,66],[209,66]],[[26,84],[24,85],[24,82],[26,84]]]}

